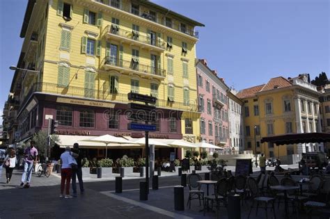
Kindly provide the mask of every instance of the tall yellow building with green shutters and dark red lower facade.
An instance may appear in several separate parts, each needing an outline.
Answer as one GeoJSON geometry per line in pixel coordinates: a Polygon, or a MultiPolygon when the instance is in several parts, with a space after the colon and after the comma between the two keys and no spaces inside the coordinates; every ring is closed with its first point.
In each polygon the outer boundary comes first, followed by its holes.
{"type": "Polygon", "coordinates": [[[52,117],[59,120],[59,133],[88,129],[94,136],[108,129],[129,135],[121,114],[109,126],[100,124],[98,114],[100,108],[125,110],[127,93],[138,92],[157,97],[157,107],[164,109],[155,136],[175,133],[196,141],[195,26],[203,24],[150,1],[29,1],[17,67],[40,73],[15,72],[10,90],[22,103],[17,113],[19,127],[24,127],[20,139],[34,132],[22,115],[33,92],[45,96],[28,111],[39,107],[37,129],[45,129],[45,117],[52,117]],[[39,104],[43,101],[49,108],[39,104]]]}

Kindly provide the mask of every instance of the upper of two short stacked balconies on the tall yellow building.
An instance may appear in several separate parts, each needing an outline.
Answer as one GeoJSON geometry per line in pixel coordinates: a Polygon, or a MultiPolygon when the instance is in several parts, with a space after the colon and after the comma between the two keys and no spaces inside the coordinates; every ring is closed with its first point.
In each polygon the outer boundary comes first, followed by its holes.
{"type": "Polygon", "coordinates": [[[150,40],[145,35],[140,35],[137,31],[126,31],[120,29],[117,24],[107,26],[107,38],[126,42],[131,46],[139,46],[141,48],[150,49],[152,51],[165,51],[165,43],[162,40],[150,40]]]}

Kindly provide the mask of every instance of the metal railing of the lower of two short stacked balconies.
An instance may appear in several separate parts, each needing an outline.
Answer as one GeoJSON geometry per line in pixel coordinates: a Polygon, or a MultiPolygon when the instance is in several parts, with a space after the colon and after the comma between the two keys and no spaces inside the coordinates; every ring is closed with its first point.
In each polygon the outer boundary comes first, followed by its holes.
{"type": "Polygon", "coordinates": [[[136,72],[143,72],[144,74],[152,74],[157,76],[166,76],[166,70],[163,70],[158,67],[153,67],[150,65],[140,64],[137,59],[136,60],[123,60],[120,58],[116,58],[113,56],[105,57],[105,65],[112,65],[116,67],[123,67],[126,70],[133,70],[136,72]]]}

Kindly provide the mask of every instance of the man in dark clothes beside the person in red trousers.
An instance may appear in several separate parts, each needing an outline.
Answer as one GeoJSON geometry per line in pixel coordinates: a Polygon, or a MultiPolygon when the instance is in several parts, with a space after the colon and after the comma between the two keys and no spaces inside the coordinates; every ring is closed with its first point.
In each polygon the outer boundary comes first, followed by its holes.
{"type": "Polygon", "coordinates": [[[80,194],[84,194],[84,182],[82,181],[82,170],[81,167],[85,164],[85,159],[82,157],[81,152],[79,151],[79,145],[78,143],[73,144],[72,152],[74,154],[78,154],[78,157],[76,158],[77,161],[77,169],[72,169],[72,190],[73,190],[73,197],[77,197],[77,183],[76,183],[76,176],[78,177],[79,181],[79,188],[80,188],[80,194]],[[83,162],[81,162],[83,160],[83,162]]]}

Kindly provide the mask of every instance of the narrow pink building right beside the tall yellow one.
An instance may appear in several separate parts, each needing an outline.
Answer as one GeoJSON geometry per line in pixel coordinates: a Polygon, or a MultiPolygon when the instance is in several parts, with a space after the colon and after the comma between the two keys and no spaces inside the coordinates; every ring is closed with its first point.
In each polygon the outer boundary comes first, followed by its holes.
{"type": "MultiPolygon", "coordinates": [[[[198,105],[201,111],[201,142],[229,147],[228,86],[210,70],[205,59],[196,64],[198,105]]],[[[229,149],[229,148],[228,148],[229,149]]]]}

